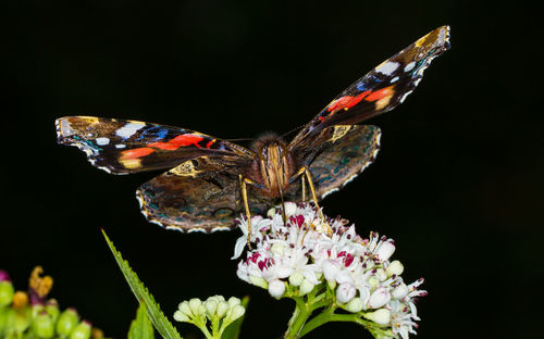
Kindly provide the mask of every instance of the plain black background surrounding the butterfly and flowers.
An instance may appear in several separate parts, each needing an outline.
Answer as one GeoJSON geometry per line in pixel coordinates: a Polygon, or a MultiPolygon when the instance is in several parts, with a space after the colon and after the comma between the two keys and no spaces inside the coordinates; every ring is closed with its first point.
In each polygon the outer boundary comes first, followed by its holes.
{"type": "MultiPolygon", "coordinates": [[[[251,296],[243,338],[279,338],[294,304],[237,279],[239,231],[146,223],[134,190],[55,143],[53,121],[97,115],[221,138],[286,133],[428,32],[452,50],[382,128],[378,161],[323,201],[360,234],[396,240],[425,277],[418,338],[527,338],[542,318],[542,46],[535,9],[474,1],[14,1],[2,3],[0,267],[41,264],[52,297],[123,338],[136,301],[104,228],[171,315],[180,301],[251,296]],[[534,13],[534,15],[533,15],[534,13]],[[14,121],[13,121],[14,120],[14,121]]],[[[195,336],[190,326],[182,335],[195,336]]],[[[308,338],[366,336],[331,324],[308,338]]]]}

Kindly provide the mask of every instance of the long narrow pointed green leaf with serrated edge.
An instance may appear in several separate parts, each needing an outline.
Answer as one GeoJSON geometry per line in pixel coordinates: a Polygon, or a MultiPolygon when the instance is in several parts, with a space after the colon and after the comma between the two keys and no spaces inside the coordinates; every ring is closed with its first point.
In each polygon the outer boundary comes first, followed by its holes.
{"type": "Polygon", "coordinates": [[[153,296],[149,293],[147,288],[139,280],[136,273],[132,271],[128,263],[125,260],[123,260],[123,256],[121,256],[121,253],[118,252],[118,250],[111,242],[110,238],[108,238],[103,229],[102,234],[106,238],[106,241],[108,242],[108,246],[110,247],[111,252],[113,253],[113,256],[115,258],[115,261],[119,264],[119,267],[121,268],[121,272],[123,272],[123,275],[125,276],[126,282],[128,282],[128,286],[131,286],[134,296],[139,302],[144,302],[146,304],[147,315],[149,316],[149,319],[151,319],[151,323],[153,324],[157,331],[164,339],[182,339],[175,327],[172,325],[172,323],[169,322],[166,316],[162,313],[159,304],[154,301],[153,296]]]}

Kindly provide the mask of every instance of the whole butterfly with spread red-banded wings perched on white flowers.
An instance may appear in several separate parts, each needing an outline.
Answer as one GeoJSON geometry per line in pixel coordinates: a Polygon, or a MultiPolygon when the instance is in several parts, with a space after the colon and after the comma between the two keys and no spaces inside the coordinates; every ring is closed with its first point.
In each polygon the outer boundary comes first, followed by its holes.
{"type": "Polygon", "coordinates": [[[359,123],[400,104],[448,49],[449,27],[434,29],[349,86],[289,142],[267,135],[247,149],[185,128],[92,116],[58,118],[58,142],[111,174],[170,168],[136,191],[149,222],[182,231],[231,229],[240,211],[249,217],[307,193],[318,203],[355,178],[380,148],[380,129],[359,123]]]}

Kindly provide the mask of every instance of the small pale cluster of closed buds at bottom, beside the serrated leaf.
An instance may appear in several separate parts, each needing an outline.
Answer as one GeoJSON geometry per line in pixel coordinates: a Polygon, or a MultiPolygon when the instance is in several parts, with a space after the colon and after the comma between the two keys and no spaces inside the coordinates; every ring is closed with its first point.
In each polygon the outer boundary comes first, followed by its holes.
{"type": "Polygon", "coordinates": [[[194,324],[205,334],[209,334],[209,328],[211,328],[212,337],[221,338],[223,330],[245,312],[246,309],[240,300],[235,297],[225,300],[222,296],[213,296],[205,301],[193,298],[180,303],[178,310],[174,313],[174,319],[194,324]]]}

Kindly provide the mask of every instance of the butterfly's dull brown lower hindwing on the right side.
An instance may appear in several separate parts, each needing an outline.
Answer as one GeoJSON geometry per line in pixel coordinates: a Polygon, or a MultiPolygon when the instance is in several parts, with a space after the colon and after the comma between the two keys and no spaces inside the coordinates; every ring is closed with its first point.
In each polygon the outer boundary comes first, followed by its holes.
{"type": "MultiPolygon", "coordinates": [[[[311,173],[319,199],[344,187],[368,165],[380,149],[380,128],[370,125],[337,125],[323,129],[318,148],[298,154],[311,173]]],[[[299,200],[301,188],[293,183],[287,199],[299,200]]]]}

